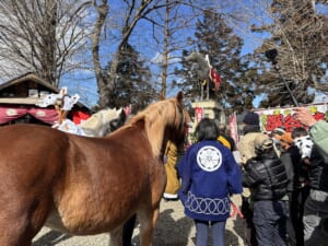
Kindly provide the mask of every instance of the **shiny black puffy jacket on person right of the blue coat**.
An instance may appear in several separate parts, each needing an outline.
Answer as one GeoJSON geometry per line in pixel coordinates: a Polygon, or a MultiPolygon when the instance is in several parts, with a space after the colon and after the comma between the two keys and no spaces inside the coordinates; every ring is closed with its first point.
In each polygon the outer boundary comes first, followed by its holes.
{"type": "Polygon", "coordinates": [[[254,200],[279,200],[286,194],[286,171],[274,150],[248,160],[243,185],[251,188],[254,200]]]}

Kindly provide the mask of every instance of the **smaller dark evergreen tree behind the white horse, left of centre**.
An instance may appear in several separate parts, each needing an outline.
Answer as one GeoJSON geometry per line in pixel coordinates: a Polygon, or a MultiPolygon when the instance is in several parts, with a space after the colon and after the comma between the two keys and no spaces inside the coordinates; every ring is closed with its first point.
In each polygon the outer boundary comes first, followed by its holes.
{"type": "MultiPolygon", "coordinates": [[[[110,63],[103,71],[105,79],[108,79],[110,63]]],[[[150,84],[150,69],[144,67],[139,52],[131,45],[126,45],[120,51],[117,66],[117,77],[112,92],[114,102],[110,107],[124,107],[132,105],[133,113],[144,108],[153,101],[155,91],[150,84]]]]}

